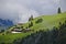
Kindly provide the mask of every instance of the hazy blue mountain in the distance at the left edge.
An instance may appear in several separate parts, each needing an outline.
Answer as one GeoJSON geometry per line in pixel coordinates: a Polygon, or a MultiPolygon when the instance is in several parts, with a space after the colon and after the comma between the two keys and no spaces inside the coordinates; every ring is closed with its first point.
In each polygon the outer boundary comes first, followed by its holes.
{"type": "Polygon", "coordinates": [[[13,25],[12,21],[0,19],[0,30],[6,30],[12,25],[13,25]]]}

